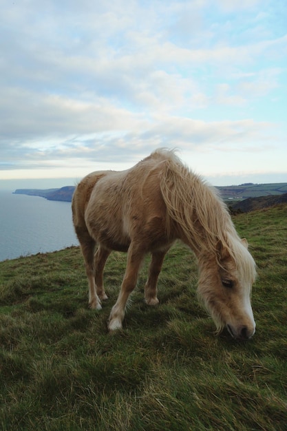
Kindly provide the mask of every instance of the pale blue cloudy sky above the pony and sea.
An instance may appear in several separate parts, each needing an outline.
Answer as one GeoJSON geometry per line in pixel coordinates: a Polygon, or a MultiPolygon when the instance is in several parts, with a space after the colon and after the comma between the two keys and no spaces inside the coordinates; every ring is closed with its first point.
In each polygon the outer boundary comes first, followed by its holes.
{"type": "Polygon", "coordinates": [[[213,185],[287,182],[286,0],[0,0],[0,187],[177,147],[213,185]]]}

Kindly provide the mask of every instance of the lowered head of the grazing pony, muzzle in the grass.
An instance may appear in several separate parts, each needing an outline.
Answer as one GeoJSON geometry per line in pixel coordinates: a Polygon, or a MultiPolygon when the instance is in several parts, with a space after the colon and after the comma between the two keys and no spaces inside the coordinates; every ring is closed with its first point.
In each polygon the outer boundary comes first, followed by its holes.
{"type": "Polygon", "coordinates": [[[217,255],[199,258],[198,297],[220,332],[224,327],[233,338],[249,339],[255,333],[251,287],[255,262],[246,240],[233,240],[232,251],[217,244],[217,255]]]}

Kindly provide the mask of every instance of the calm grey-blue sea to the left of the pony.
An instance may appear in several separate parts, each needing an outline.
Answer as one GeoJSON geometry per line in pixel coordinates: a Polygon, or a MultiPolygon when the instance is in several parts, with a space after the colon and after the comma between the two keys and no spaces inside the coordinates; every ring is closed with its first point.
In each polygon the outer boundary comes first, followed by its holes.
{"type": "Polygon", "coordinates": [[[78,245],[70,202],[0,191],[0,261],[78,245]]]}

